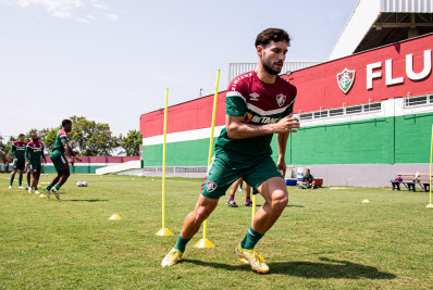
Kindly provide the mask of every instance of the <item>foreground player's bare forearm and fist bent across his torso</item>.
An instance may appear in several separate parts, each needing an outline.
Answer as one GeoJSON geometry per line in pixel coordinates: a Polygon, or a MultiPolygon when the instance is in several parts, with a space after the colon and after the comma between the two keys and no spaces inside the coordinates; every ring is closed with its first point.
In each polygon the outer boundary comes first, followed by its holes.
{"type": "Polygon", "coordinates": [[[243,116],[225,115],[225,127],[227,135],[233,139],[252,138],[270,134],[296,133],[299,121],[292,115],[285,116],[275,124],[252,125],[244,123],[243,116]]]}

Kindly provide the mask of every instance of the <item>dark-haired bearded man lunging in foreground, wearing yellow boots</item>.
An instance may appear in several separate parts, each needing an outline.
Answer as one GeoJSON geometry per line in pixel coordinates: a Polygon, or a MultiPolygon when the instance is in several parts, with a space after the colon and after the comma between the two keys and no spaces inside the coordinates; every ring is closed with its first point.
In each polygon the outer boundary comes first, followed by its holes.
{"type": "Polygon", "coordinates": [[[296,88],[279,76],[288,46],[289,37],[283,29],[269,28],[257,36],[258,67],[236,77],[228,86],[225,128],[215,143],[201,194],[194,211],[185,217],[177,242],[161,266],[172,266],[182,259],[187,242],[216,207],[219,199],[243,177],[253,193],[260,192],[265,202],[235,253],[257,273],[269,272],[255,247],[287,205],[284,155],[288,134],[299,128],[299,121],[290,115],[296,88]],[[271,159],[273,134],[276,134],[279,149],[276,165],[271,159]]]}

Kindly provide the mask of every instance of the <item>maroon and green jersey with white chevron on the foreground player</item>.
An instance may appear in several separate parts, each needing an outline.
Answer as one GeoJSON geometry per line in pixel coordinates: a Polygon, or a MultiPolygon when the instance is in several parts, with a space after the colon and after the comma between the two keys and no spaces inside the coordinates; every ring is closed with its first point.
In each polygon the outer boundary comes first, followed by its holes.
{"type": "MultiPolygon", "coordinates": [[[[277,76],[274,84],[259,79],[255,71],[243,74],[231,81],[226,94],[225,114],[244,116],[252,125],[277,123],[289,115],[296,99],[296,87],[277,76]]],[[[272,134],[246,139],[232,139],[225,128],[216,141],[216,149],[246,155],[272,154],[272,134]]]]}

